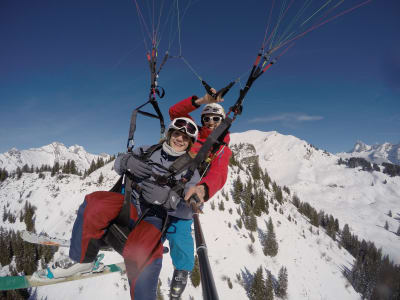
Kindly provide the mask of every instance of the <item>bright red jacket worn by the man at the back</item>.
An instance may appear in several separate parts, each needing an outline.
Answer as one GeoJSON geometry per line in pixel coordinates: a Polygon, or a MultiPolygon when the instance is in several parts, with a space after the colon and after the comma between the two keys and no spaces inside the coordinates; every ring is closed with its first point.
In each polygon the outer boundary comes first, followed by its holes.
{"type": "MultiPolygon", "coordinates": [[[[191,113],[192,111],[194,111],[199,107],[194,103],[194,100],[196,99],[197,99],[196,96],[192,96],[171,106],[169,109],[169,116],[171,120],[179,117],[186,117],[193,120],[193,118],[189,115],[189,113],[191,113]]],[[[191,151],[197,153],[210,133],[211,130],[208,129],[207,127],[199,126],[199,136],[197,138],[197,142],[193,145],[191,151]]],[[[229,141],[230,137],[228,133],[224,138],[224,142],[226,143],[226,145],[228,145],[229,141]]],[[[197,185],[201,184],[205,185],[206,200],[214,196],[216,192],[218,192],[220,189],[223,188],[226,179],[228,177],[228,165],[229,165],[229,159],[232,155],[232,151],[231,149],[229,149],[228,146],[221,146],[216,153],[217,155],[211,161],[206,176],[204,176],[197,184],[197,185]]]]}

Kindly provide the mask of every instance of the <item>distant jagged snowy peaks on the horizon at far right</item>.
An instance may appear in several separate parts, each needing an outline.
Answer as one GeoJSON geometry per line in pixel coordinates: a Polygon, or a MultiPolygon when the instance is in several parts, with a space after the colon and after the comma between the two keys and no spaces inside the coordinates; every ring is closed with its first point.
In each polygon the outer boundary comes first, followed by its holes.
{"type": "Polygon", "coordinates": [[[387,162],[400,165],[400,144],[384,143],[370,146],[358,141],[349,152],[341,152],[336,155],[343,159],[362,157],[377,164],[387,162]]]}

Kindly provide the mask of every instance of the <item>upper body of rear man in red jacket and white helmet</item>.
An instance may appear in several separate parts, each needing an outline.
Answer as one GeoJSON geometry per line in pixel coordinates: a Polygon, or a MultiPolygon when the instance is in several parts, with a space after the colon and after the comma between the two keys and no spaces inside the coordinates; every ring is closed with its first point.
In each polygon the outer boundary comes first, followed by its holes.
{"type": "MultiPolygon", "coordinates": [[[[214,89],[212,90],[214,93],[216,92],[214,89]]],[[[199,129],[197,142],[191,148],[192,152],[197,153],[200,150],[209,134],[217,128],[225,118],[224,108],[218,104],[218,102],[222,101],[223,99],[220,97],[214,99],[209,94],[206,94],[201,98],[192,96],[178,102],[169,109],[171,120],[178,117],[193,119],[189,113],[199,108],[200,105],[206,104],[201,112],[202,126],[199,129]]],[[[228,133],[224,139],[225,145],[220,146],[218,151],[214,155],[211,155],[211,157],[209,157],[205,162],[200,173],[202,176],[201,181],[188,191],[185,200],[188,200],[194,193],[196,193],[201,202],[207,201],[224,186],[228,176],[229,159],[232,155],[232,152],[228,147],[229,140],[230,137],[228,133]]]]}

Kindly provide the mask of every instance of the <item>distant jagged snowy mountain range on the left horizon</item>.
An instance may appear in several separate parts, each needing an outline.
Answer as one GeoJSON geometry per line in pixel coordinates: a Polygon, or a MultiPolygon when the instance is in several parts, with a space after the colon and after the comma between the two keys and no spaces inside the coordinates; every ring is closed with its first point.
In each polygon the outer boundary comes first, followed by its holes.
{"type": "Polygon", "coordinates": [[[80,171],[89,169],[92,160],[110,158],[108,154],[91,154],[85,151],[82,146],[73,145],[66,147],[62,143],[53,142],[40,148],[31,148],[28,150],[18,150],[12,148],[8,152],[0,154],[0,169],[4,168],[8,172],[15,171],[18,167],[22,168],[25,164],[29,167],[40,167],[49,165],[52,167],[58,162],[61,166],[68,160],[74,160],[76,167],[80,171]]]}

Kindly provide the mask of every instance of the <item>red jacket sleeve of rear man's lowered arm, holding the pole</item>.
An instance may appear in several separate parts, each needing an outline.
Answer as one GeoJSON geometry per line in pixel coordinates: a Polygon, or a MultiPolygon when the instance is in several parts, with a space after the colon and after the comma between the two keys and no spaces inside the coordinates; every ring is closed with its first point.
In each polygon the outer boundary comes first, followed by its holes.
{"type": "Polygon", "coordinates": [[[225,146],[211,162],[207,175],[198,183],[199,185],[206,185],[206,194],[208,192],[208,197],[206,198],[210,199],[224,187],[228,177],[228,166],[231,155],[231,149],[225,146]]]}

